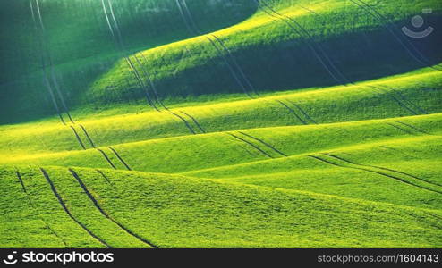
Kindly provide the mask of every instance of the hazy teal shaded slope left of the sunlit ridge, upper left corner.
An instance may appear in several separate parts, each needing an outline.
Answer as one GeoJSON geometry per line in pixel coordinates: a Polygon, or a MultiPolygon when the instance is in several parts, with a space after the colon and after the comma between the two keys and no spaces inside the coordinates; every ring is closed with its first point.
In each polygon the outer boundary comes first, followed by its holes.
{"type": "MultiPolygon", "coordinates": [[[[74,107],[84,102],[91,105],[93,100],[81,98],[82,93],[122,59],[123,54],[191,38],[175,0],[111,3],[115,12],[111,20],[115,15],[123,50],[115,44],[99,0],[1,1],[0,124],[30,121],[55,113],[41,71],[43,65],[49,69],[49,62],[62,85],[67,105],[74,107]],[[42,56],[46,57],[44,61],[42,56]]],[[[234,25],[256,12],[256,4],[249,0],[191,3],[193,13],[206,18],[207,23],[201,28],[204,33],[234,25]]],[[[109,7],[106,8],[109,13],[109,7]]],[[[132,95],[121,102],[141,96],[132,95]]]]}

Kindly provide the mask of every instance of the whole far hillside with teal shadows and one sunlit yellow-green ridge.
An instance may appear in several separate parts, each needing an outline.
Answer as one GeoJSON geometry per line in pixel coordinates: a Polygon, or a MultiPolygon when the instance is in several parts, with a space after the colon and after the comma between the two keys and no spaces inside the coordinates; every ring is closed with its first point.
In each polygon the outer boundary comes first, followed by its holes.
{"type": "MultiPolygon", "coordinates": [[[[442,61],[438,32],[413,45],[390,25],[422,4],[367,1],[385,21],[358,1],[5,1],[1,91],[13,101],[1,121],[348,84],[442,61]]],[[[425,4],[439,23],[438,1],[425,4]]]]}

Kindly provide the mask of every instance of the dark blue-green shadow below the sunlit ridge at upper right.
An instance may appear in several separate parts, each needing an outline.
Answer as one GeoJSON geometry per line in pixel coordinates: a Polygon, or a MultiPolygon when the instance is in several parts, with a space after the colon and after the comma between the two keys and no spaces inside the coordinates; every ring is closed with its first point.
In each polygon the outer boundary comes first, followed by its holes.
{"type": "MultiPolygon", "coordinates": [[[[431,21],[433,25],[442,25],[441,22],[441,17],[431,21]]],[[[395,27],[406,25],[404,23],[406,21],[399,22],[395,27]]],[[[441,39],[442,29],[438,29],[428,38],[409,38],[409,41],[432,65],[442,63],[441,39]]],[[[415,60],[417,54],[409,53],[409,45],[402,46],[387,29],[344,33],[309,42],[322,47],[348,81],[374,80],[429,66],[415,60]]],[[[232,50],[232,54],[258,92],[329,87],[346,82],[333,79],[300,38],[277,44],[245,46],[232,50]]],[[[157,84],[164,89],[161,90],[163,97],[242,93],[222,57],[158,80],[157,84]]]]}

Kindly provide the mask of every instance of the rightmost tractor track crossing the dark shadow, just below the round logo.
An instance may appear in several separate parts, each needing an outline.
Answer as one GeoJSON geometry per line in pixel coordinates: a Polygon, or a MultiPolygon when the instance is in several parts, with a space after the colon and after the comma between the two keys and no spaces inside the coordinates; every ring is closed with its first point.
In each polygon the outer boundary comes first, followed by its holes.
{"type": "Polygon", "coordinates": [[[370,4],[367,4],[362,0],[350,0],[350,1],[353,4],[356,4],[357,6],[359,6],[361,9],[363,9],[366,13],[369,13],[374,19],[381,22],[381,24],[388,30],[388,32],[395,38],[395,40],[397,42],[399,42],[399,44],[401,46],[404,47],[406,52],[408,54],[410,54],[410,56],[412,56],[412,58],[416,62],[421,63],[422,65],[427,66],[433,70],[442,71],[442,67],[440,67],[439,64],[429,63],[429,60],[423,54],[421,54],[421,52],[415,46],[413,46],[412,43],[407,38],[402,39],[401,38],[401,37],[403,37],[402,34],[400,34],[400,35],[396,34],[395,31],[399,32],[399,29],[397,29],[397,27],[395,26],[393,21],[389,20],[383,14],[378,13],[378,11],[374,7],[370,6],[370,4]],[[392,26],[390,26],[390,24],[392,26]],[[408,47],[405,43],[407,43],[410,47],[408,47]],[[412,50],[414,51],[415,54],[413,54],[412,50]],[[419,56],[416,54],[418,54],[419,56]],[[421,58],[419,58],[419,57],[421,57],[421,58]]]}

